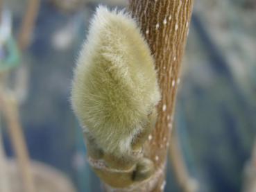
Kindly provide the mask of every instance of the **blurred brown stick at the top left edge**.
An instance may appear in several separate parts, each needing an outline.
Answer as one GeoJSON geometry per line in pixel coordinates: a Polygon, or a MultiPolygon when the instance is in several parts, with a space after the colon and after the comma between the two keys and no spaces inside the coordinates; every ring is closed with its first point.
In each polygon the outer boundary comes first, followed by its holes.
{"type": "Polygon", "coordinates": [[[24,15],[24,19],[22,20],[22,28],[19,31],[18,37],[18,45],[21,50],[26,49],[30,43],[39,7],[40,0],[28,0],[28,9],[26,10],[26,15],[24,15]]]}

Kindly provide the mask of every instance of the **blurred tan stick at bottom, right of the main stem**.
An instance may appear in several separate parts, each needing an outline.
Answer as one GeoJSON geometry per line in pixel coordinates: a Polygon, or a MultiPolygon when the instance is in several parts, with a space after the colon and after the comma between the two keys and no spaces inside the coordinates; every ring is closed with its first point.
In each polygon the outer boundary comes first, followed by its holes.
{"type": "Polygon", "coordinates": [[[178,141],[177,132],[173,132],[171,135],[171,145],[169,147],[169,158],[171,164],[173,164],[174,172],[176,178],[178,180],[178,184],[180,184],[182,191],[185,192],[193,192],[197,191],[198,183],[196,180],[189,176],[187,172],[187,168],[184,162],[184,158],[182,156],[180,150],[180,144],[178,141]]]}

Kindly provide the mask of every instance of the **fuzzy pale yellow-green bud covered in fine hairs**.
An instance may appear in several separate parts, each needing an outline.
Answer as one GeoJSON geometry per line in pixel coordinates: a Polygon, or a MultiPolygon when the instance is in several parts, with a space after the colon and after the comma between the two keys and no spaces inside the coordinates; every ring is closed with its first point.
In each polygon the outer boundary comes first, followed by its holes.
{"type": "Polygon", "coordinates": [[[160,100],[154,62],[135,21],[100,6],[80,51],[71,103],[104,152],[122,157],[160,100]]]}

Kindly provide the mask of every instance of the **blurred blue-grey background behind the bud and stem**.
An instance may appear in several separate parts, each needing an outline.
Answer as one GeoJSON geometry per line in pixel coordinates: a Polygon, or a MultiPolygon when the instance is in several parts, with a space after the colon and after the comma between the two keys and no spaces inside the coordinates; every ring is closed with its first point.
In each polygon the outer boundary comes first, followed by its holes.
{"type": "MultiPolygon", "coordinates": [[[[82,132],[69,103],[72,70],[96,6],[123,8],[127,1],[0,3],[0,87],[15,95],[19,124],[35,162],[32,169],[48,171],[45,177],[38,171],[41,185],[54,182],[67,184],[66,191],[101,191],[85,160],[82,132]],[[56,179],[49,180],[47,174],[56,179]]],[[[255,192],[255,0],[195,2],[177,102],[175,137],[185,172],[193,178],[191,188],[255,192]]],[[[8,160],[15,152],[4,119],[2,112],[2,159],[15,164],[8,160]]],[[[169,159],[165,191],[183,191],[173,161],[169,159]]],[[[15,173],[8,177],[18,177],[15,173]]],[[[46,189],[60,191],[51,187],[46,189]]]]}

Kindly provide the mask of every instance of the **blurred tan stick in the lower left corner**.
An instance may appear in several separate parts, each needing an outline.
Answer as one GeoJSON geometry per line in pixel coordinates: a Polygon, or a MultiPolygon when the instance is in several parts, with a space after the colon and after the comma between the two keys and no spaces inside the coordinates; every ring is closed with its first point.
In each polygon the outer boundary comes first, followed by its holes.
{"type": "Polygon", "coordinates": [[[0,97],[1,109],[3,111],[3,116],[6,119],[8,130],[10,132],[12,146],[15,150],[17,163],[20,169],[20,176],[24,184],[24,191],[33,192],[35,191],[35,186],[33,183],[33,176],[28,158],[28,151],[26,149],[24,134],[19,122],[18,105],[15,101],[15,98],[10,94],[4,94],[1,92],[0,97]]]}

